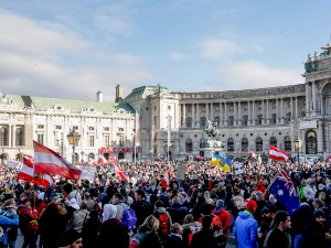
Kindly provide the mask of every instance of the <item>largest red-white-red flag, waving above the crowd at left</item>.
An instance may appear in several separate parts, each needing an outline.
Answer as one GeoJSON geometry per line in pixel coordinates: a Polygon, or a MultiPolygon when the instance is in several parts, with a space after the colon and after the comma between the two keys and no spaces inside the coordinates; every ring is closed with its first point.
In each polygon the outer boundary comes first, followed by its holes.
{"type": "Polygon", "coordinates": [[[82,171],[68,163],[57,152],[33,141],[34,145],[34,173],[56,174],[66,179],[79,180],[82,171]]]}

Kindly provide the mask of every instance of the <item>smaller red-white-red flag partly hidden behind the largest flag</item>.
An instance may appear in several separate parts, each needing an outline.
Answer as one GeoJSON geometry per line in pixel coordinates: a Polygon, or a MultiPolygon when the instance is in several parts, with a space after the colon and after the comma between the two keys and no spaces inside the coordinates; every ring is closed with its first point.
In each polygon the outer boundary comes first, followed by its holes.
{"type": "Polygon", "coordinates": [[[23,154],[23,166],[18,174],[18,179],[24,180],[29,183],[35,183],[47,187],[50,184],[55,183],[54,179],[49,174],[36,175],[33,172],[33,158],[31,155],[23,154]]]}

